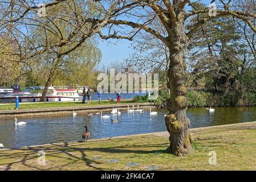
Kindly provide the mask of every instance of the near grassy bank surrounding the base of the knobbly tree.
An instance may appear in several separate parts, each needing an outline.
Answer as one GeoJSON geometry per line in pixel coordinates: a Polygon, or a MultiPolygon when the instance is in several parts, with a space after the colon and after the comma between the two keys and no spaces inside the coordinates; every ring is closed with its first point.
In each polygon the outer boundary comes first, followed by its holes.
{"type": "Polygon", "coordinates": [[[0,150],[0,170],[255,170],[256,122],[190,130],[194,155],[166,154],[168,133],[0,150]],[[38,164],[38,151],[46,165],[38,164]],[[208,163],[210,151],[217,165],[208,163]]]}

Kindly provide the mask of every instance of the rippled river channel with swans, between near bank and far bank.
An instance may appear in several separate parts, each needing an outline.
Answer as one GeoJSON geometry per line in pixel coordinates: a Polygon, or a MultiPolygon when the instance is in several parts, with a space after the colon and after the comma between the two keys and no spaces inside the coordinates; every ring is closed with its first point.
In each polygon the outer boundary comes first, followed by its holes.
{"type": "MultiPolygon", "coordinates": [[[[27,122],[25,126],[16,126],[13,119],[0,120],[0,143],[5,147],[22,147],[44,143],[68,142],[82,139],[84,125],[88,126],[92,138],[115,137],[120,135],[165,131],[164,114],[127,113],[113,115],[119,123],[111,123],[110,119],[101,119],[100,115],[72,115],[18,118],[18,122],[27,122]]],[[[110,113],[105,113],[110,115],[110,113]]],[[[216,108],[214,113],[202,108],[190,108],[187,115],[191,127],[226,125],[230,123],[256,121],[256,107],[216,108]]]]}

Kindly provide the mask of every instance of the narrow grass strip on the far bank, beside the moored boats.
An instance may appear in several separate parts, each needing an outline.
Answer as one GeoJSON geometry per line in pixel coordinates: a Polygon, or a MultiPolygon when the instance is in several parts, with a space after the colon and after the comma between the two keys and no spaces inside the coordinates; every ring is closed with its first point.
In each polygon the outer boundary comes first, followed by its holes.
{"type": "MultiPolygon", "coordinates": [[[[87,102],[86,102],[87,103],[87,102]]],[[[123,100],[121,104],[129,104],[132,103],[131,100],[123,100]]],[[[91,104],[82,104],[82,101],[77,102],[43,102],[43,103],[20,103],[19,109],[40,109],[40,108],[49,108],[49,107],[74,107],[74,106],[91,106],[91,105],[107,105],[109,101],[101,101],[101,104],[98,101],[91,101],[91,104]]],[[[116,104],[116,102],[114,102],[116,104]]],[[[10,110],[14,109],[15,104],[5,104],[0,105],[0,110],[10,110]]]]}

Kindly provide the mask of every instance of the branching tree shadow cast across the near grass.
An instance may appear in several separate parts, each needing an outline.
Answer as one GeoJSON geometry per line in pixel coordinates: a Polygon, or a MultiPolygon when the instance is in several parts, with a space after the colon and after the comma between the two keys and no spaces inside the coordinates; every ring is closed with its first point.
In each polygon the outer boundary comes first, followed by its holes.
{"type": "MultiPolygon", "coordinates": [[[[116,141],[115,141],[116,142],[116,141]]],[[[62,170],[65,167],[72,166],[72,164],[81,164],[83,168],[88,170],[113,170],[113,168],[97,167],[99,164],[104,164],[89,157],[88,154],[107,155],[113,158],[120,158],[115,154],[160,154],[165,150],[150,150],[149,148],[160,147],[162,144],[144,144],[144,145],[121,145],[114,147],[87,147],[87,143],[64,143],[64,144],[50,144],[47,146],[10,149],[0,152],[0,166],[5,166],[5,170],[21,170],[27,167],[31,170],[62,170]],[[134,148],[134,149],[128,149],[134,148]],[[136,150],[140,148],[140,150],[136,150]],[[46,152],[46,166],[38,164],[38,151],[46,152]],[[5,159],[10,159],[11,162],[3,162],[5,159]],[[48,158],[48,159],[47,159],[48,158]],[[52,165],[51,165],[52,164],[52,165]],[[86,166],[83,166],[86,165],[86,166]]],[[[94,144],[94,143],[89,143],[94,144]]],[[[107,162],[106,162],[107,163],[107,162]]],[[[102,166],[102,165],[101,165],[102,166]]]]}

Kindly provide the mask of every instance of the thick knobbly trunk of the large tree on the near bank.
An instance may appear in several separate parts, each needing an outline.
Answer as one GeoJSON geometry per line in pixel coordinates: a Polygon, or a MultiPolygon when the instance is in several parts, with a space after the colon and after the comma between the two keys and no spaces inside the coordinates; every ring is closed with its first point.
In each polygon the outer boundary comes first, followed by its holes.
{"type": "Polygon", "coordinates": [[[170,35],[170,64],[168,69],[170,98],[169,114],[165,118],[165,125],[170,134],[168,152],[177,156],[193,154],[193,139],[188,132],[190,120],[186,117],[188,99],[185,86],[185,43],[187,36],[183,29],[183,18],[176,20],[170,35]]]}

